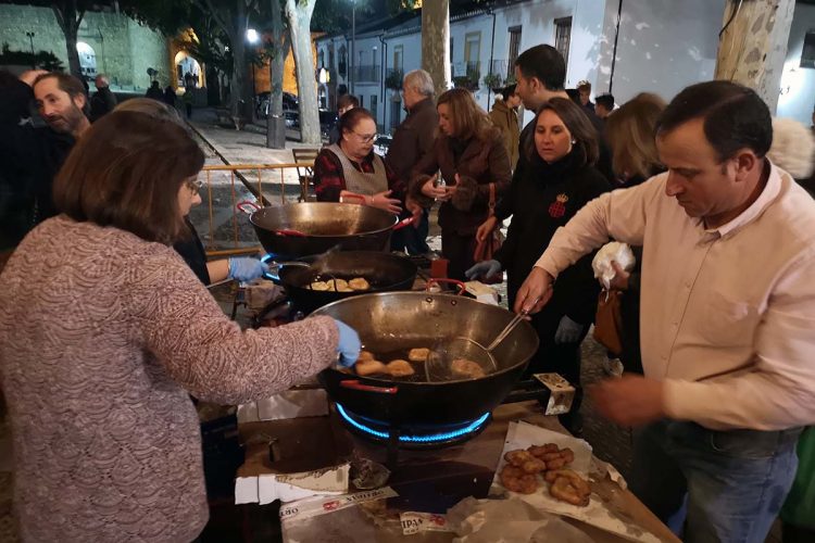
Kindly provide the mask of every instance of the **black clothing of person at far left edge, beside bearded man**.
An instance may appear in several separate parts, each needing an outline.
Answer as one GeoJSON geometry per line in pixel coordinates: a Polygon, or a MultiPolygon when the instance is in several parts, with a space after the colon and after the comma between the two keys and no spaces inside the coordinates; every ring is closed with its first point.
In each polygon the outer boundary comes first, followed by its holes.
{"type": "Polygon", "coordinates": [[[16,247],[42,220],[57,215],[53,178],[74,138],[28,118],[34,91],[17,81],[0,92],[0,250],[16,247]]]}

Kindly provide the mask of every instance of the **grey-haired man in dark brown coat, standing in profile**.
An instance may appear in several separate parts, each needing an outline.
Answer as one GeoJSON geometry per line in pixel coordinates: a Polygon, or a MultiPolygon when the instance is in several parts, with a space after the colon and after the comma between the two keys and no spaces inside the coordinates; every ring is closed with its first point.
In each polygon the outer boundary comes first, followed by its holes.
{"type": "MultiPolygon", "coordinates": [[[[435,142],[439,115],[434,93],[432,78],[424,70],[414,70],[404,75],[402,94],[408,117],[393,134],[393,141],[385,156],[386,164],[404,182],[411,181],[411,171],[432,149],[435,142]]],[[[402,218],[408,216],[410,213],[405,212],[402,218]]],[[[430,229],[428,217],[429,211],[424,210],[416,228],[403,228],[393,232],[391,249],[408,254],[428,253],[430,248],[425,241],[430,229]]]]}

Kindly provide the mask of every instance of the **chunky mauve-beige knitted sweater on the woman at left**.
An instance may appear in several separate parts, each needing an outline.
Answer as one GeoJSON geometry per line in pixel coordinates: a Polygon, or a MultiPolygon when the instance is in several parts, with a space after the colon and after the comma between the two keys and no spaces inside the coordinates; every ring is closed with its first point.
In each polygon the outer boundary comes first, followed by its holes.
{"type": "Polygon", "coordinates": [[[188,392],[261,399],[336,359],[330,318],[241,331],[172,248],[64,216],[0,285],[25,541],[192,540],[208,507],[188,392]]]}

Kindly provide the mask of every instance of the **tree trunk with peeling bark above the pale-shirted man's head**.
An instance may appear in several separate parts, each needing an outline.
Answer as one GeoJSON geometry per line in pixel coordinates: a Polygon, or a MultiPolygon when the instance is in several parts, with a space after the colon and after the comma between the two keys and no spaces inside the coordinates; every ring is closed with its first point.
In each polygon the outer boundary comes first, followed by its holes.
{"type": "Polygon", "coordinates": [[[716,79],[750,87],[775,112],[787,56],[794,0],[727,0],[716,79]],[[735,13],[735,15],[734,15],[735,13]]]}

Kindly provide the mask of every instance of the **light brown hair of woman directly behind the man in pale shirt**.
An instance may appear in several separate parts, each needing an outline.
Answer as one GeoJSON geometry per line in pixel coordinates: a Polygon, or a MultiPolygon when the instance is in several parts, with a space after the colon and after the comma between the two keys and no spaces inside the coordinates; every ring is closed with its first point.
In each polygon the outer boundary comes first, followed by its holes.
{"type": "Polygon", "coordinates": [[[664,171],[656,152],[654,130],[665,101],[640,92],[605,119],[605,139],[612,168],[623,187],[632,187],[664,171]]]}

